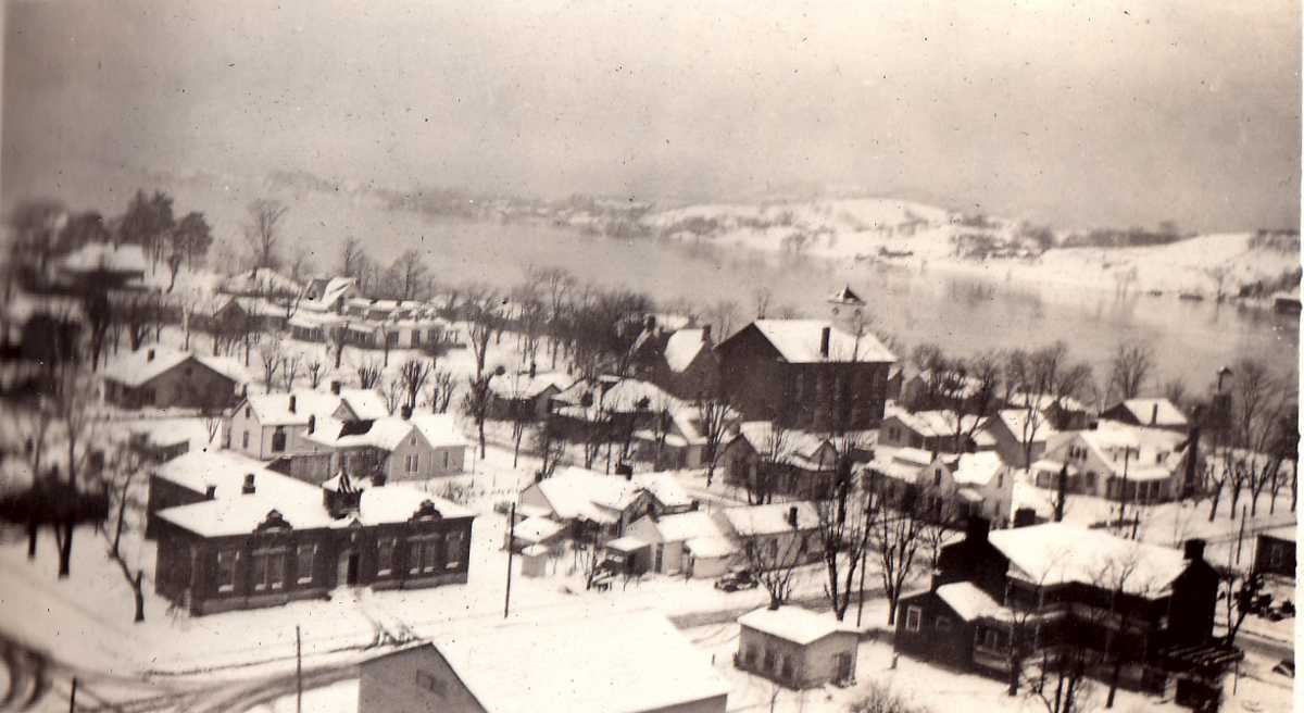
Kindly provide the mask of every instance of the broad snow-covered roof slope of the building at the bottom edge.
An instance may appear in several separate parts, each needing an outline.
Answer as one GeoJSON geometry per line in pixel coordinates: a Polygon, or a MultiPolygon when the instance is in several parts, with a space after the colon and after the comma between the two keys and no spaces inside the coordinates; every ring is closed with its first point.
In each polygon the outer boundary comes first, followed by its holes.
{"type": "Polygon", "coordinates": [[[494,713],[632,713],[729,693],[707,656],[653,611],[548,615],[430,643],[494,713]]]}

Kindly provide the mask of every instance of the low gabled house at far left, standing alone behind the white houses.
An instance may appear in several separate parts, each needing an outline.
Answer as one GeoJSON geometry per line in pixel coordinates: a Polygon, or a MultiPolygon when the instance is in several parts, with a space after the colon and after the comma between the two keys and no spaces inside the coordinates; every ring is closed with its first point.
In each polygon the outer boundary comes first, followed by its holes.
{"type": "Polygon", "coordinates": [[[102,373],[104,400],[121,408],[197,408],[220,412],[248,378],[240,365],[159,344],[111,361],[102,373]]]}

